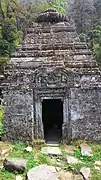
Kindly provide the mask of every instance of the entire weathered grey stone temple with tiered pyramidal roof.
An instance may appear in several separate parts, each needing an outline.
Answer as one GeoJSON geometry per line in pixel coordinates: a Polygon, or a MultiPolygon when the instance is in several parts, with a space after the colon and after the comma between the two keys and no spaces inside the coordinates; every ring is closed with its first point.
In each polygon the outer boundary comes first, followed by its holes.
{"type": "Polygon", "coordinates": [[[101,141],[101,73],[67,17],[42,13],[4,76],[7,140],[101,141]]]}

